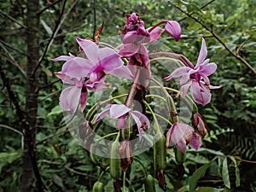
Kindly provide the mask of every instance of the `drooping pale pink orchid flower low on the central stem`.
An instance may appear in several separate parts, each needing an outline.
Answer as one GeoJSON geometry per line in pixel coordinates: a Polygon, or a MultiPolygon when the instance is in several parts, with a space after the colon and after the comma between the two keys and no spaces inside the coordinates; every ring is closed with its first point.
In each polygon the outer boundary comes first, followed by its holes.
{"type": "Polygon", "coordinates": [[[119,129],[127,129],[128,125],[125,122],[125,117],[127,115],[131,115],[137,124],[137,128],[139,131],[139,139],[142,140],[143,130],[148,130],[150,124],[148,118],[138,111],[133,111],[131,108],[126,107],[124,104],[110,104],[108,105],[102,113],[99,113],[94,121],[96,123],[100,119],[102,119],[106,114],[109,114],[111,119],[118,119],[116,126],[119,129]]]}

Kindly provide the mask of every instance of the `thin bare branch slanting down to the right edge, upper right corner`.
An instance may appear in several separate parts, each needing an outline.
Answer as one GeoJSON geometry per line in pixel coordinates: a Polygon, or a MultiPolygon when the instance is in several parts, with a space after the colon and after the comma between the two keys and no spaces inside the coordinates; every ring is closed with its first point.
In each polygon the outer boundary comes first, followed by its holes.
{"type": "Polygon", "coordinates": [[[227,45],[218,37],[217,34],[215,34],[215,32],[213,32],[213,30],[211,28],[209,28],[207,25],[205,25],[203,22],[201,22],[201,20],[198,20],[197,18],[195,18],[195,16],[183,11],[183,9],[179,8],[177,5],[173,4],[173,6],[175,8],[177,8],[178,10],[180,10],[183,14],[187,15],[189,18],[195,20],[197,23],[199,23],[201,26],[203,26],[208,32],[212,33],[212,36],[214,38],[216,38],[218,40],[218,42],[220,44],[222,44],[224,46],[224,49],[228,50],[230,52],[230,55],[233,55],[238,61],[241,61],[241,63],[243,63],[245,66],[247,66],[254,74],[256,74],[256,70],[245,60],[243,59],[240,55],[237,55],[236,53],[234,53],[230,48],[227,47],[227,45]]]}

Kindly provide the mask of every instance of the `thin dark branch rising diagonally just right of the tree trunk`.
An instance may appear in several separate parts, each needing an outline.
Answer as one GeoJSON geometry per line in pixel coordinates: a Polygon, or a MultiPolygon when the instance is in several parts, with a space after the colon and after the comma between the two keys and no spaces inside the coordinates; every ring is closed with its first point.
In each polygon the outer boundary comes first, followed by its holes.
{"type": "Polygon", "coordinates": [[[48,44],[46,45],[45,49],[44,49],[44,53],[43,55],[40,57],[39,61],[38,61],[38,65],[37,67],[35,67],[33,73],[32,73],[32,76],[35,75],[35,73],[38,71],[38,67],[40,67],[40,65],[42,64],[42,61],[44,60],[44,56],[46,55],[49,47],[51,46],[51,44],[53,43],[54,39],[55,39],[55,36],[56,34],[59,32],[60,28],[61,28],[61,25],[62,23],[64,22],[64,20],[66,20],[67,18],[67,15],[70,13],[70,11],[73,9],[73,7],[75,6],[75,4],[77,3],[77,1],[74,1],[74,3],[72,4],[72,6],[70,7],[70,9],[67,10],[67,13],[66,15],[64,15],[64,9],[65,9],[65,5],[67,3],[67,0],[64,0],[64,3],[62,5],[62,8],[61,8],[61,15],[59,16],[59,19],[57,20],[56,22],[56,25],[55,25],[55,29],[51,35],[51,37],[49,38],[49,42],[48,44]],[[64,16],[63,16],[64,15],[64,16]],[[61,20],[63,16],[63,19],[61,20]]]}

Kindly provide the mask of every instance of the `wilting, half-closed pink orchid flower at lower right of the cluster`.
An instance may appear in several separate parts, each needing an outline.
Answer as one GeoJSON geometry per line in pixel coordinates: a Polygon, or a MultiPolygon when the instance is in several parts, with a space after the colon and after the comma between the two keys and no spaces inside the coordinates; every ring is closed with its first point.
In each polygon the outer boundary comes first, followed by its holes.
{"type": "Polygon", "coordinates": [[[170,143],[173,143],[184,154],[187,150],[187,144],[196,150],[200,147],[200,136],[191,126],[183,123],[175,123],[167,131],[166,148],[169,147],[170,143]]]}

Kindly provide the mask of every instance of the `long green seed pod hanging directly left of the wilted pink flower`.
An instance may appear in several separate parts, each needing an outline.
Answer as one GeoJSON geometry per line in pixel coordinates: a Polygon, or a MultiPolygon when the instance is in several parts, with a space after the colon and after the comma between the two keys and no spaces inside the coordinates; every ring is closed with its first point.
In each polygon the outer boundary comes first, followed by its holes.
{"type": "MultiPolygon", "coordinates": [[[[155,139],[155,137],[154,137],[155,139]]],[[[166,137],[162,135],[154,143],[154,170],[164,170],[166,168],[166,137]]]]}

